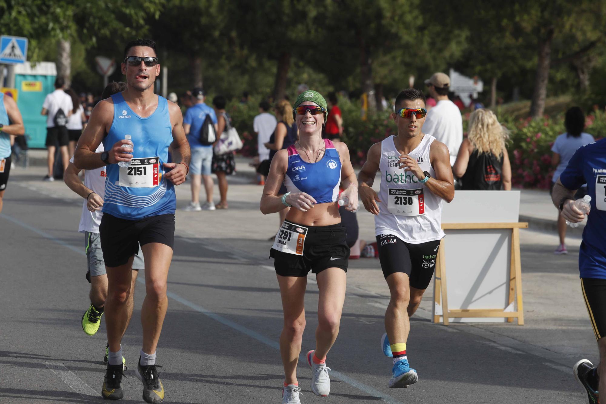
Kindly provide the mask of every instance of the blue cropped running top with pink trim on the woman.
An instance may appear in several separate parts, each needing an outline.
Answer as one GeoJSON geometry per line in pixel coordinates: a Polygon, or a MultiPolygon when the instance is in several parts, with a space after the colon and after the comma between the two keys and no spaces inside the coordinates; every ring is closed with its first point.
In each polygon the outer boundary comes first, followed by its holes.
{"type": "Polygon", "coordinates": [[[317,203],[336,202],[341,183],[341,159],[332,141],[324,140],[324,157],[317,163],[303,161],[295,145],[288,146],[284,185],[288,192],[305,192],[317,203]]]}

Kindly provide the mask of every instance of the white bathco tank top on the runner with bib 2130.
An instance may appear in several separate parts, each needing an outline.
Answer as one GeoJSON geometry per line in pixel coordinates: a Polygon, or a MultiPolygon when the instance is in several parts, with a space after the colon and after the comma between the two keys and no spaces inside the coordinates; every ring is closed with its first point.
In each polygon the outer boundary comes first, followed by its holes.
{"type": "MultiPolygon", "coordinates": [[[[411,244],[440,240],[444,237],[442,198],[432,194],[411,172],[398,168],[400,152],[394,139],[392,135],[381,142],[381,202],[380,213],[375,216],[375,234],[395,235],[411,244]]],[[[435,137],[424,135],[419,146],[408,153],[431,178],[435,178],[435,171],[430,164],[429,149],[434,140],[435,137]]]]}

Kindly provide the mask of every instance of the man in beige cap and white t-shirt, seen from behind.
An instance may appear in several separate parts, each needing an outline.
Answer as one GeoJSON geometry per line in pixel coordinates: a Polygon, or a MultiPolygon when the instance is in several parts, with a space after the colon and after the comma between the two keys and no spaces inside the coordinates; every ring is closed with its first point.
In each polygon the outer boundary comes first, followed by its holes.
{"type": "Polygon", "coordinates": [[[434,73],[425,84],[437,103],[427,112],[423,131],[448,147],[450,166],[453,166],[463,141],[463,118],[459,108],[448,99],[450,77],[445,73],[434,73]]]}

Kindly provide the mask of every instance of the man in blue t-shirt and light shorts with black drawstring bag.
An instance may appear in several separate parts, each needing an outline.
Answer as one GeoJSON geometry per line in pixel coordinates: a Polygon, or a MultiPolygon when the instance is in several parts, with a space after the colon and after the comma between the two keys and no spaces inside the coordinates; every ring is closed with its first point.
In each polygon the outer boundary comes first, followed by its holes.
{"type": "Polygon", "coordinates": [[[196,87],[191,91],[191,97],[196,104],[190,107],[183,118],[183,129],[191,147],[191,202],[185,207],[187,212],[196,212],[198,210],[215,210],[213,203],[213,178],[210,176],[210,165],[213,161],[213,146],[204,146],[200,143],[200,130],[206,116],[215,124],[215,132],[218,131],[217,115],[212,107],[207,106],[204,101],[206,96],[204,90],[196,87]],[[200,206],[199,194],[200,186],[204,179],[204,189],[206,190],[206,203],[200,206]]]}

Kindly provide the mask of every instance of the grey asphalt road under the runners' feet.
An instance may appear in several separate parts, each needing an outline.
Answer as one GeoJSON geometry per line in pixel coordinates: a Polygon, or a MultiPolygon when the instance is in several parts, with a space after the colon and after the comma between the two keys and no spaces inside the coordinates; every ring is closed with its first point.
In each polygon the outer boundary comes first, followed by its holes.
{"type": "MultiPolygon", "coordinates": [[[[0,402],[102,402],[105,326],[90,337],[80,325],[89,304],[84,236],[76,232],[81,199],[64,184],[41,183],[40,177],[32,169],[14,170],[0,214],[0,402]]],[[[267,258],[271,243],[264,240],[277,218],[258,213],[259,187],[231,181],[233,202],[218,212],[220,220],[202,216],[210,212],[177,215],[157,360],[167,403],[281,402],[281,301],[267,258]]],[[[187,185],[179,189],[179,206],[187,203],[187,191],[187,185]]],[[[594,354],[595,342],[574,283],[574,254],[552,260],[545,255],[551,239],[541,240],[522,237],[523,268],[530,268],[524,275],[527,326],[434,325],[424,302],[411,320],[407,347],[419,382],[407,389],[387,387],[391,359],[379,346],[387,288],[378,260],[352,261],[341,332],[327,360],[333,369],[331,394],[311,392],[311,371],[301,357],[301,402],[583,402],[570,366],[576,355],[594,354]],[[554,275],[556,293],[544,291],[540,268],[554,275]],[[568,312],[561,322],[550,307],[565,299],[568,312]]],[[[142,278],[122,341],[127,403],[142,402],[134,371],[141,348],[142,278]]],[[[315,346],[317,303],[311,276],[303,354],[315,346]]]]}

